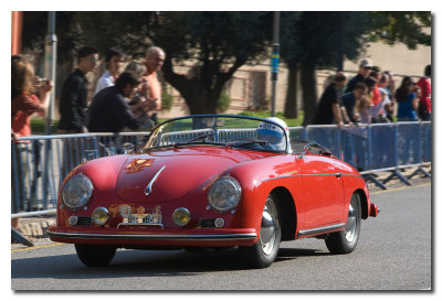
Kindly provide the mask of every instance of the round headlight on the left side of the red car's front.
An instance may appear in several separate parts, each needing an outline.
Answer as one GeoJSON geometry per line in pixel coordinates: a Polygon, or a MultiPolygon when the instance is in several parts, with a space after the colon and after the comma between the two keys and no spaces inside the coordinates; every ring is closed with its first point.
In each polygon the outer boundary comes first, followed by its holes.
{"type": "Polygon", "coordinates": [[[62,204],[69,209],[77,211],[77,209],[84,207],[85,205],[87,205],[87,203],[91,201],[93,191],[94,191],[94,185],[92,184],[92,181],[90,178],[87,178],[83,173],[74,174],[70,179],[67,179],[67,181],[63,185],[63,189],[61,192],[62,204]],[[72,196],[72,190],[75,187],[73,185],[82,185],[82,184],[84,186],[76,186],[76,189],[84,189],[83,200],[81,200],[80,202],[77,202],[77,201],[73,202],[72,200],[69,200],[70,198],[69,194],[71,194],[71,196],[72,196]],[[76,204],[73,204],[73,203],[76,203],[76,204]]]}

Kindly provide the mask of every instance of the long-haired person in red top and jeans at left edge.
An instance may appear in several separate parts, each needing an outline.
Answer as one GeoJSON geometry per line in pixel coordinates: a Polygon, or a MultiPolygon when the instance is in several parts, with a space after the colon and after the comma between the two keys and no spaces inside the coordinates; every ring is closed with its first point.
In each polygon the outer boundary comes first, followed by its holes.
{"type": "MultiPolygon", "coordinates": [[[[34,76],[34,68],[19,55],[11,57],[11,138],[12,138],[12,208],[24,209],[22,201],[28,200],[27,182],[30,181],[28,160],[32,158],[30,141],[18,138],[31,136],[31,115],[45,116],[52,92],[52,83],[34,76]],[[40,97],[35,95],[39,89],[40,97]],[[15,172],[17,174],[15,174],[15,172]],[[18,192],[18,193],[17,193],[18,192]],[[19,207],[17,207],[19,206],[19,207]]],[[[20,232],[20,219],[12,218],[11,226],[20,232]]]]}

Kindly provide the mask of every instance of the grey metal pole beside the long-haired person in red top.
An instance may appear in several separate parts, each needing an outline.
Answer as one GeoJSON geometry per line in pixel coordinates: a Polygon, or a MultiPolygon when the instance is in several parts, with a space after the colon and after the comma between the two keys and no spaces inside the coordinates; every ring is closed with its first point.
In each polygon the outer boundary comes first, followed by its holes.
{"type": "Polygon", "coordinates": [[[44,40],[44,77],[51,79],[53,89],[50,94],[50,103],[46,116],[46,135],[52,133],[52,123],[55,107],[55,68],[56,68],[56,35],[55,12],[48,12],[48,35],[44,40]]]}

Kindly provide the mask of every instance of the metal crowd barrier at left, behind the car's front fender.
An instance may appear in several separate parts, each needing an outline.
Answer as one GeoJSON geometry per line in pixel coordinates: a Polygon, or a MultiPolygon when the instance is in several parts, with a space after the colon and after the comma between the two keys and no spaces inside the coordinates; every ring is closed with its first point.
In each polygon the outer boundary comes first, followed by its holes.
{"type": "Polygon", "coordinates": [[[55,209],[63,179],[80,163],[138,151],[149,132],[32,136],[11,143],[12,217],[55,209]]]}

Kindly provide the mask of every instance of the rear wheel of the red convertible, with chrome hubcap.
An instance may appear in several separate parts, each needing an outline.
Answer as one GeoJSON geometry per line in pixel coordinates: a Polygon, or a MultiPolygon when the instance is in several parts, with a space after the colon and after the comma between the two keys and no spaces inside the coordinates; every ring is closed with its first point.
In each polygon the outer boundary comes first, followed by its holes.
{"type": "Polygon", "coordinates": [[[358,194],[354,194],[348,206],[345,229],[329,234],[325,239],[325,244],[332,254],[348,254],[356,248],[360,234],[360,198],[358,194]]]}

